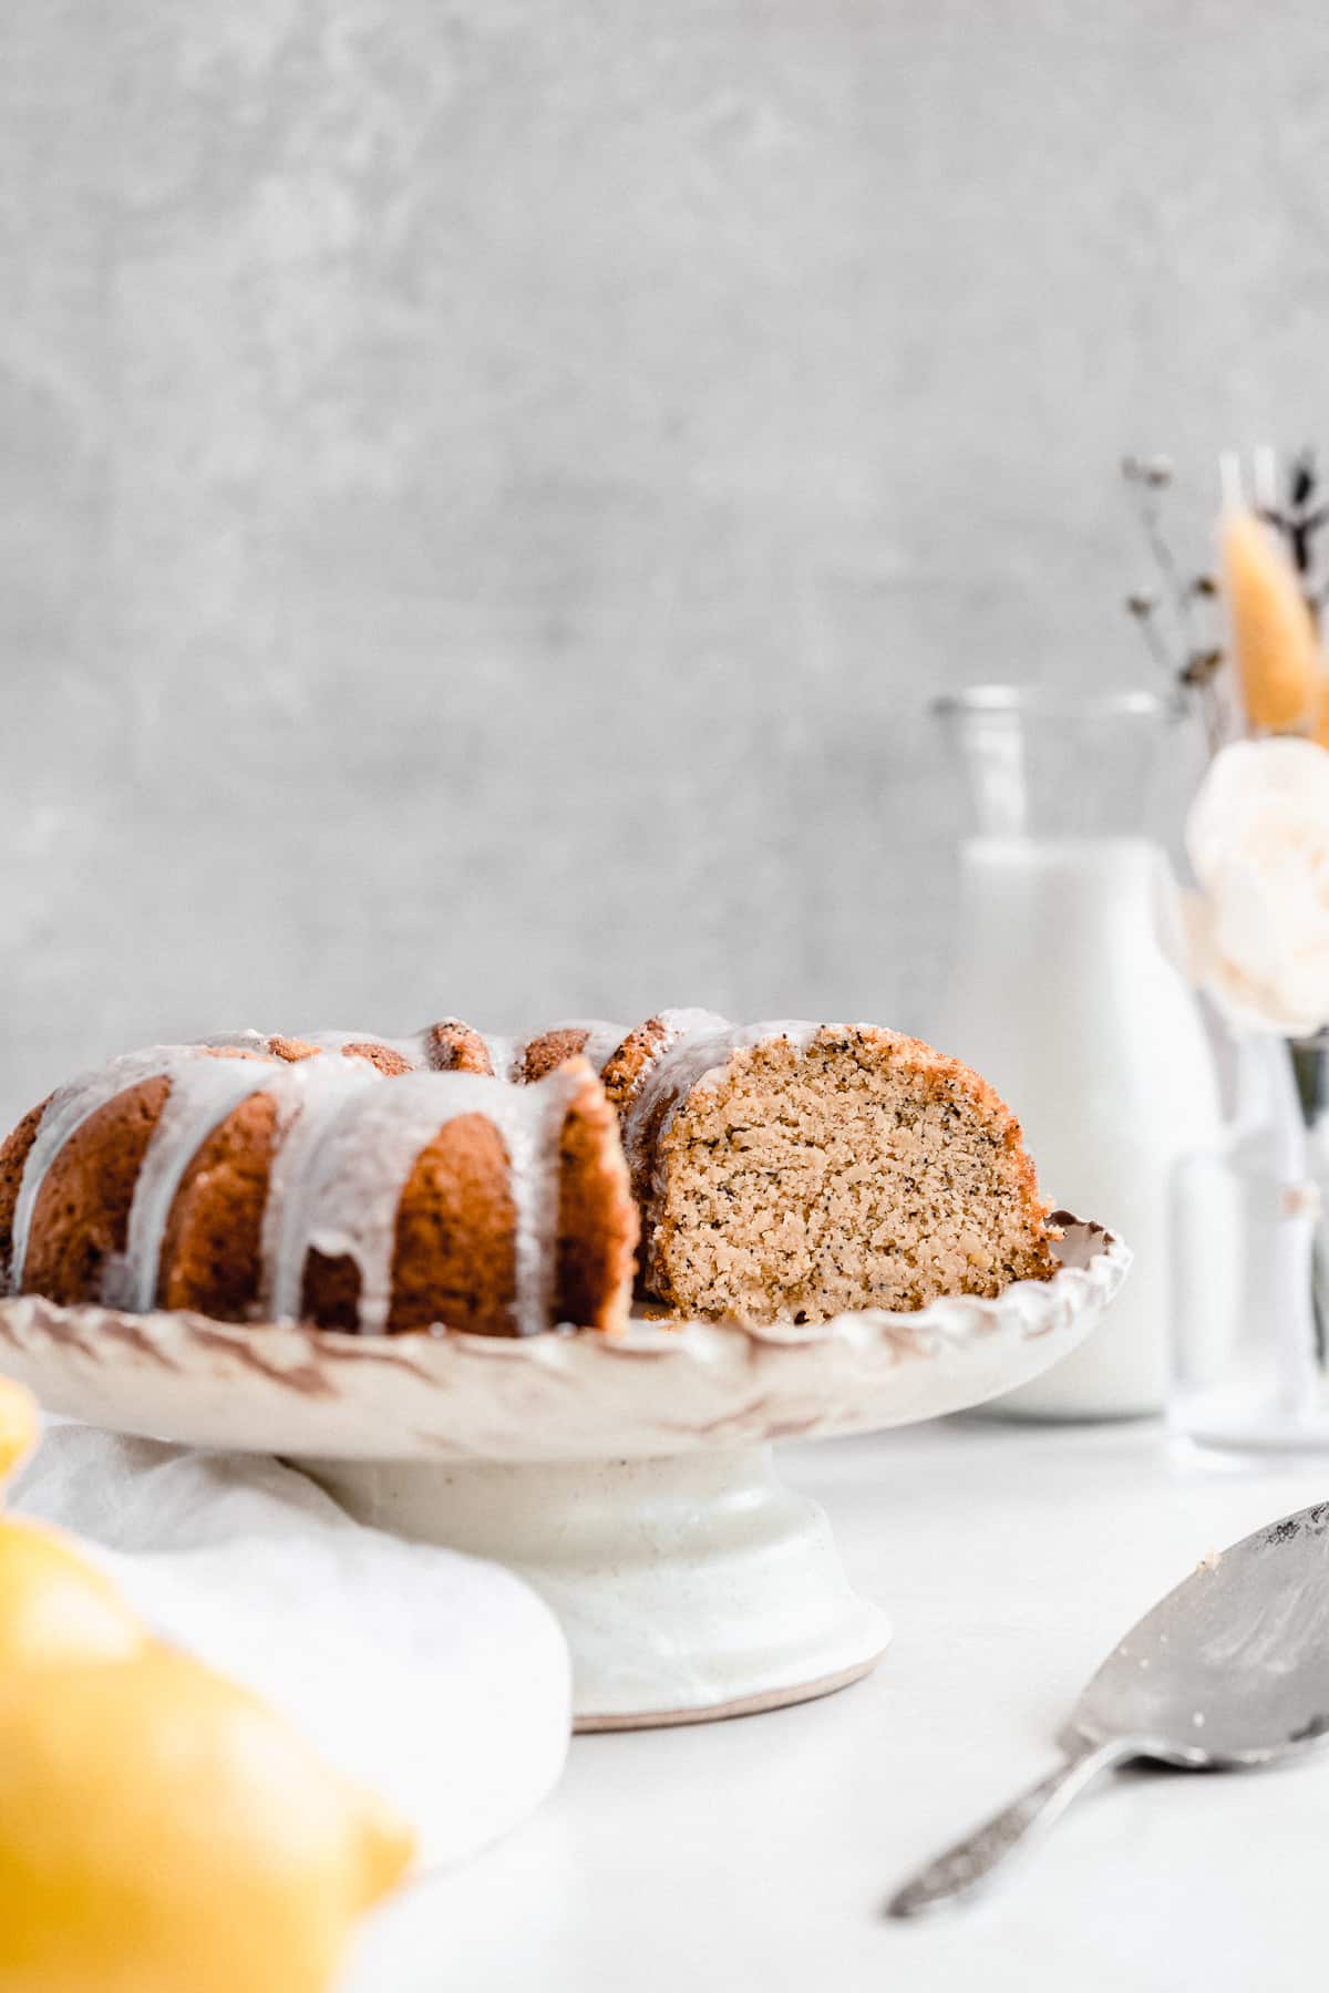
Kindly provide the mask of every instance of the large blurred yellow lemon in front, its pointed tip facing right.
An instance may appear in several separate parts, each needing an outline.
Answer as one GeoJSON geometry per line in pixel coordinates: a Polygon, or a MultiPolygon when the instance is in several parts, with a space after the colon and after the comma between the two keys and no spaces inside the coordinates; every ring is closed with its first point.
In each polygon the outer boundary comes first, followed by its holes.
{"type": "Polygon", "coordinates": [[[325,1993],[410,1857],[265,1704],[157,1642],[0,1672],[4,1993],[325,1993]]]}

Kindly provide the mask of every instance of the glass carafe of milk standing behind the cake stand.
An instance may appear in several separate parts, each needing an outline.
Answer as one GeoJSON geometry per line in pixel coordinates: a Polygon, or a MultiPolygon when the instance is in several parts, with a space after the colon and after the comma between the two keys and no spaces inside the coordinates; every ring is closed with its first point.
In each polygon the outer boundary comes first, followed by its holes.
{"type": "Polygon", "coordinates": [[[978,686],[938,717],[970,791],[938,1044],[1024,1128],[1054,1208],[1120,1232],[1136,1262],[1088,1343],[992,1411],[1034,1419],[1164,1409],[1172,1178],[1219,1134],[1213,1054],[1166,947],[1176,887],[1142,833],[1168,710],[978,686]]]}

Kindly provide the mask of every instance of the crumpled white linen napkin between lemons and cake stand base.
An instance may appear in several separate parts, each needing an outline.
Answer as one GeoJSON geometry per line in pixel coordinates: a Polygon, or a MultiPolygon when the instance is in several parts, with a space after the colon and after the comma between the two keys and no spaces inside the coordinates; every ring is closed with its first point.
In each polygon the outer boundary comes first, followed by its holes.
{"type": "Polygon", "coordinates": [[[498,1565],[353,1523],[305,1475],[54,1423],[14,1511],[84,1539],[143,1618],[255,1688],[458,1861],[546,1798],[568,1754],[558,1620],[498,1565]]]}

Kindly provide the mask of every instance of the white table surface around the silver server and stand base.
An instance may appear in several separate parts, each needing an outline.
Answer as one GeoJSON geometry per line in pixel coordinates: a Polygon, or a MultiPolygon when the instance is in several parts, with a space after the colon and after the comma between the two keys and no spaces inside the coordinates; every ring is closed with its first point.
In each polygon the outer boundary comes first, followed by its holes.
{"type": "Polygon", "coordinates": [[[1329,1969],[1329,1756],[1126,1772],[1006,1887],[887,1923],[891,1883],[1052,1762],[1116,1638],[1209,1549],[1329,1495],[1329,1461],[1180,1457],[1152,1427],[952,1421],[787,1447],[895,1618],[823,1702],[572,1744],[560,1790],[367,1931],[347,1993],[1241,1989],[1329,1969]]]}

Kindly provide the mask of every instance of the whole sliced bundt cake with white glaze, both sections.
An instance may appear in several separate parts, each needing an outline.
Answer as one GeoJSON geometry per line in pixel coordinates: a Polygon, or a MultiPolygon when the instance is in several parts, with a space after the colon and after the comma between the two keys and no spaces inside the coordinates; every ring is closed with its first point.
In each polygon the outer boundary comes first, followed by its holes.
{"type": "Polygon", "coordinates": [[[233,1321],[612,1329],[638,1214],[640,1291],[687,1315],[817,1321],[1054,1272],[1010,1110],[871,1024],[231,1032],[114,1060],[0,1150],[10,1291],[233,1321]]]}

